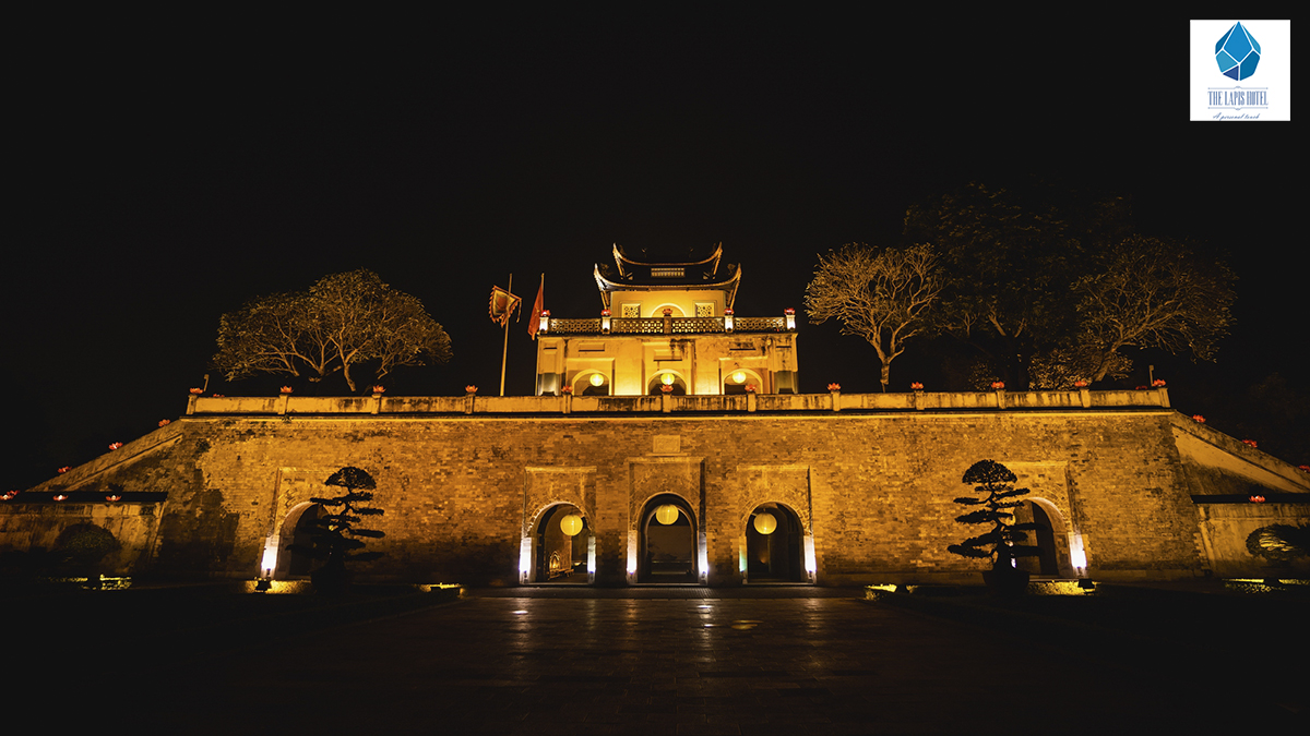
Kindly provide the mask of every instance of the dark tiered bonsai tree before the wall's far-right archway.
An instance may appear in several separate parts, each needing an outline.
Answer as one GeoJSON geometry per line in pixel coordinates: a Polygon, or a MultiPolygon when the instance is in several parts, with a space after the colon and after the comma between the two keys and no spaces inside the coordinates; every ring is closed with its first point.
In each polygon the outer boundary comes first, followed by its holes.
{"type": "Polygon", "coordinates": [[[1005,465],[992,460],[971,465],[964,471],[963,481],[973,486],[975,492],[981,494],[981,498],[960,496],[955,499],[955,503],[981,508],[956,516],[955,520],[960,524],[989,525],[990,529],[946,549],[962,557],[990,559],[992,575],[982,575],[989,584],[993,580],[1000,583],[1001,576],[1023,578],[1027,583],[1028,574],[1015,570],[1013,559],[1041,554],[1040,549],[1020,543],[1028,538],[1026,532],[1040,529],[1041,525],[1036,523],[1014,524],[1014,513],[1006,509],[1022,506],[1023,500],[1017,499],[1027,495],[1028,488],[1015,488],[1014,483],[1018,482],[1015,474],[1005,465]]]}

